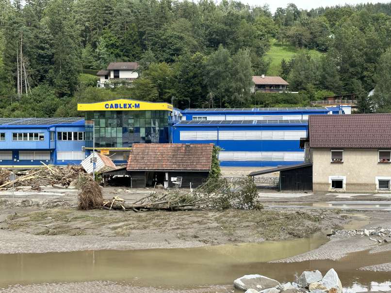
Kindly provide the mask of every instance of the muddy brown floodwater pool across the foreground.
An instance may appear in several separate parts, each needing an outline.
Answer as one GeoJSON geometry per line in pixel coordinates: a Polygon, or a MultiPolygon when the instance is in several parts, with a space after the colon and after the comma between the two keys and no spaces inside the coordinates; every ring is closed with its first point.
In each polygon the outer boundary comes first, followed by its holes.
{"type": "MultiPolygon", "coordinates": [[[[334,268],[345,287],[371,288],[371,282],[391,281],[390,273],[357,268],[391,262],[391,253],[352,253],[340,261],[268,263],[315,249],[327,238],[213,247],[98,250],[0,254],[0,288],[15,284],[112,280],[141,287],[196,288],[232,284],[246,274],[261,274],[281,282],[293,281],[306,269],[323,273],[334,268]]],[[[391,283],[390,283],[391,284],[391,283]]]]}

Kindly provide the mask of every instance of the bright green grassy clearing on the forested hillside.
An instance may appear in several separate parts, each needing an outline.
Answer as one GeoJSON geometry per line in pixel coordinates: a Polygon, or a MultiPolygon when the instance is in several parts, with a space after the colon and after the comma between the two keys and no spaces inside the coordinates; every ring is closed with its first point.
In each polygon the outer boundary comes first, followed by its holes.
{"type": "MultiPolygon", "coordinates": [[[[303,49],[307,50],[307,49],[303,49]]],[[[281,60],[289,61],[294,54],[299,52],[300,49],[292,46],[290,44],[282,46],[277,43],[276,40],[271,41],[271,46],[269,51],[266,53],[266,59],[270,59],[270,67],[266,75],[268,76],[278,76],[281,70],[281,60]]],[[[320,56],[322,53],[317,50],[307,50],[310,52],[311,56],[320,56]]]]}

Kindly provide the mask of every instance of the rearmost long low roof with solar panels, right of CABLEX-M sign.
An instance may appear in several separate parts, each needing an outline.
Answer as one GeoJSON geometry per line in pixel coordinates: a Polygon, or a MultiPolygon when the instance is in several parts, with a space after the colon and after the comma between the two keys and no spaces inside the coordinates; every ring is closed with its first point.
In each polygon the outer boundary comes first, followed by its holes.
{"type": "Polygon", "coordinates": [[[303,111],[329,111],[326,107],[293,107],[293,108],[189,108],[182,112],[303,112],[303,111]]]}

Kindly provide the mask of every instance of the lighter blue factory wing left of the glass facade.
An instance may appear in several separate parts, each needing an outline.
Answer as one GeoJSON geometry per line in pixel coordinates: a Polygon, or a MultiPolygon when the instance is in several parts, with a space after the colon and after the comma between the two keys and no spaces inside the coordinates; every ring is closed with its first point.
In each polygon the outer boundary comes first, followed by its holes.
{"type": "Polygon", "coordinates": [[[84,129],[80,117],[0,118],[0,166],[80,164],[84,129]]]}

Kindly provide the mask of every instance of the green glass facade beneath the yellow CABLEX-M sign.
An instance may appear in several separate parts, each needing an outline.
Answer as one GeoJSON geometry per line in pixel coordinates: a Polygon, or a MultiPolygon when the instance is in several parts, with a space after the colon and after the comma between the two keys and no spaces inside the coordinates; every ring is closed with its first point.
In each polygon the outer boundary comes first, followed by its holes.
{"type": "Polygon", "coordinates": [[[86,111],[86,147],[93,147],[95,120],[96,148],[128,148],[133,143],[168,143],[169,111],[86,111]]]}

